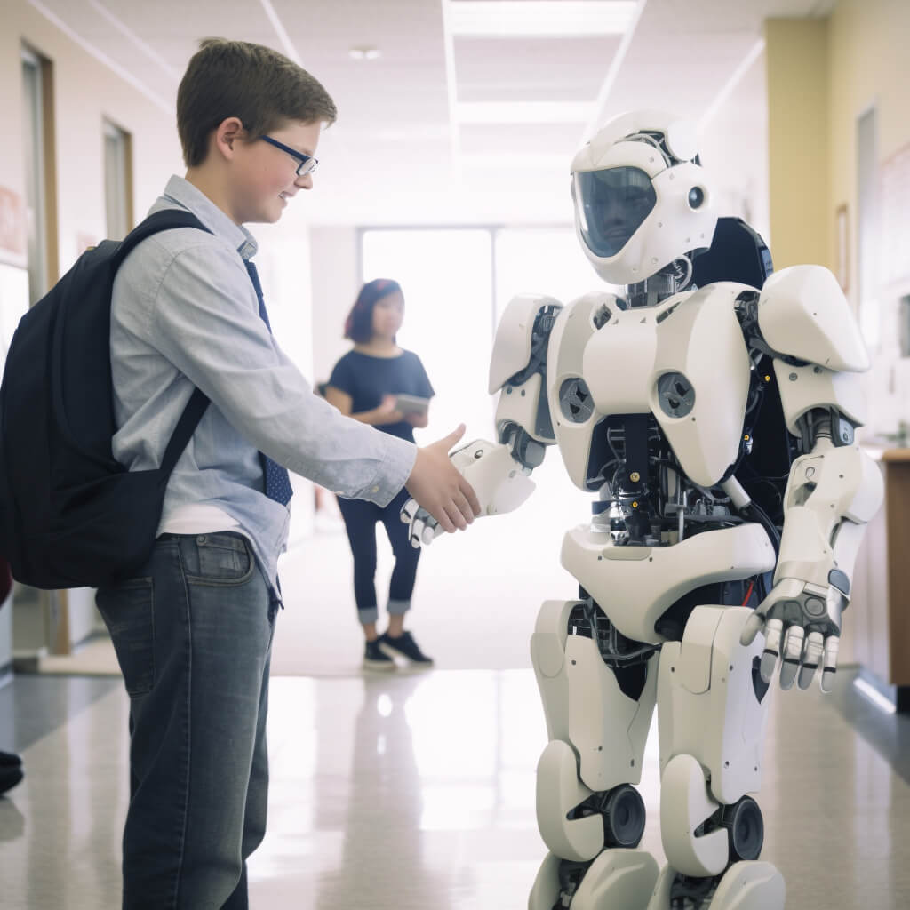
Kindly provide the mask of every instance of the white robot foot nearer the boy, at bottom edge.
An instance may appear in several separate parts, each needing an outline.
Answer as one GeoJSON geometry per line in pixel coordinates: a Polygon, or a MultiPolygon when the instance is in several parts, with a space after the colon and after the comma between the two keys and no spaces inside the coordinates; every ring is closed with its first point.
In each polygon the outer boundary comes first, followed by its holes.
{"type": "Polygon", "coordinates": [[[547,854],[528,910],[645,910],[657,873],[657,862],[644,850],[604,850],[587,863],[547,854]]]}

